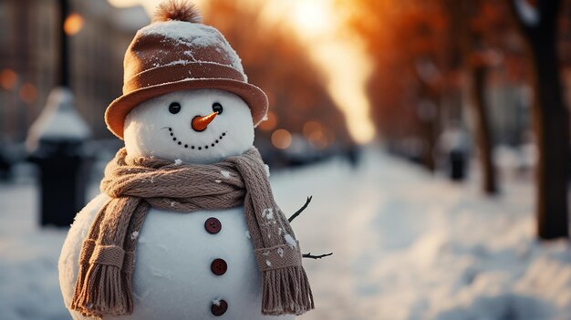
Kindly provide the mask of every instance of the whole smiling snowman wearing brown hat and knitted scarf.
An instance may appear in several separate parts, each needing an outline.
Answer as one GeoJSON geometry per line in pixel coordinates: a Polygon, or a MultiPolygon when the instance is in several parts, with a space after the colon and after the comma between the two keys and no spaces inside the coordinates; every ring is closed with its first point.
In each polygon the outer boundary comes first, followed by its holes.
{"type": "Polygon", "coordinates": [[[59,258],[74,319],[294,319],[312,309],[299,243],[253,147],[267,98],[186,2],[161,4],[106,111],[125,148],[59,258]]]}

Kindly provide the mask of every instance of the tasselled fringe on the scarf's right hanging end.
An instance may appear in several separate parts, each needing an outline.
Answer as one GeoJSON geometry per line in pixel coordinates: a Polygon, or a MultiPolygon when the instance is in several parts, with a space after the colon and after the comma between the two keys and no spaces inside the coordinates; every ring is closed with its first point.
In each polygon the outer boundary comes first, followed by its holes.
{"type": "Polygon", "coordinates": [[[315,309],[307,274],[301,265],[265,270],[262,314],[302,315],[315,309]]]}

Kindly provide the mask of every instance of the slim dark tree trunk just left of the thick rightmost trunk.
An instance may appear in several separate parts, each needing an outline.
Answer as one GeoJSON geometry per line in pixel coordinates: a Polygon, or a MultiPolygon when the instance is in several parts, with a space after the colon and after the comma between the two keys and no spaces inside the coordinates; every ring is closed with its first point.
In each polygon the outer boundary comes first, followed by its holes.
{"type": "Polygon", "coordinates": [[[495,194],[498,188],[492,158],[493,139],[485,102],[486,67],[471,67],[470,74],[473,108],[476,114],[476,143],[483,172],[482,189],[487,194],[495,194]]]}

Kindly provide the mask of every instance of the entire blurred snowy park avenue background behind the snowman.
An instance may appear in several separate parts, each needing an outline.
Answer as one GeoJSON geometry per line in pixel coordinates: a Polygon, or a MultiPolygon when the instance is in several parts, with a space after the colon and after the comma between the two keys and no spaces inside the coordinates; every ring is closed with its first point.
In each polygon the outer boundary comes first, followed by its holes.
{"type": "MultiPolygon", "coordinates": [[[[302,319],[571,319],[569,0],[201,0],[270,101],[302,319]]],[[[154,0],[0,2],[0,310],[64,319],[57,256],[122,141],[154,0]],[[62,228],[62,226],[64,226],[62,228]],[[30,275],[33,274],[33,275],[30,275]]]]}

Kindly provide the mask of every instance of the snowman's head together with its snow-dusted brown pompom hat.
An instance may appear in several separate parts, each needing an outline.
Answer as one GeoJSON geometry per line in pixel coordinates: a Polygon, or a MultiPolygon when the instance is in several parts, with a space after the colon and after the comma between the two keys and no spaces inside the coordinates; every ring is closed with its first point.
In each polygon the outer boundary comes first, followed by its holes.
{"type": "Polygon", "coordinates": [[[252,148],[267,97],[223,35],[200,21],[187,1],[166,1],[127,48],[123,95],[105,121],[130,156],[210,163],[252,148]]]}

